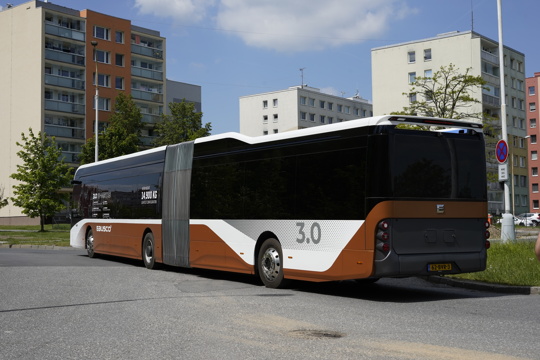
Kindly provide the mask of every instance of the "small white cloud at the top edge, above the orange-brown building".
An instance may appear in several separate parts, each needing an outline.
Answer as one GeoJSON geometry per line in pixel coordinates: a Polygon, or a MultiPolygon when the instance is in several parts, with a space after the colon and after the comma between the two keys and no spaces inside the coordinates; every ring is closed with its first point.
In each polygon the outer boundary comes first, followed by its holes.
{"type": "Polygon", "coordinates": [[[184,24],[197,23],[206,17],[214,0],[135,0],[141,14],[172,17],[184,24]]]}

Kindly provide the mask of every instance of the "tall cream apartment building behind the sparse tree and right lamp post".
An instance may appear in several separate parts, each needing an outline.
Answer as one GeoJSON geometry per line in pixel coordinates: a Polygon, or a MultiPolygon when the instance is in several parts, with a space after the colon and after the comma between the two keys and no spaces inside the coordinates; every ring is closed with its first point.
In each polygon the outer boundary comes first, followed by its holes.
{"type": "MultiPolygon", "coordinates": [[[[500,67],[498,42],[473,31],[451,32],[436,37],[372,49],[373,109],[375,115],[403,110],[414,94],[410,84],[416,76],[430,77],[441,66],[455,65],[464,73],[482,76],[487,84],[472,96],[479,101],[471,113],[485,113],[500,127],[500,67]],[[405,94],[405,95],[404,95],[405,94]]],[[[525,55],[504,48],[506,123],[510,146],[511,209],[514,214],[529,208],[525,116],[525,55]]],[[[472,121],[479,121],[470,119],[472,121]]],[[[495,139],[496,140],[496,139],[495,139]]],[[[494,158],[495,149],[488,149],[494,158]]],[[[497,164],[488,163],[488,172],[497,174],[497,164]]],[[[490,182],[489,211],[504,212],[504,193],[500,183],[490,182]]]]}

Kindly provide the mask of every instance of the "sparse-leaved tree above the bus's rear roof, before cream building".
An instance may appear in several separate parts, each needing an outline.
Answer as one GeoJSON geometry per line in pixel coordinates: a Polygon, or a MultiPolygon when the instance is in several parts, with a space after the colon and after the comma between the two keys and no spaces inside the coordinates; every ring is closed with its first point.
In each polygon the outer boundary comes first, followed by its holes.
{"type": "Polygon", "coordinates": [[[395,114],[433,116],[446,119],[483,119],[484,114],[471,108],[481,101],[473,96],[482,91],[486,81],[470,74],[471,68],[460,73],[453,64],[441,66],[431,77],[417,76],[409,92],[409,106],[395,114]]]}

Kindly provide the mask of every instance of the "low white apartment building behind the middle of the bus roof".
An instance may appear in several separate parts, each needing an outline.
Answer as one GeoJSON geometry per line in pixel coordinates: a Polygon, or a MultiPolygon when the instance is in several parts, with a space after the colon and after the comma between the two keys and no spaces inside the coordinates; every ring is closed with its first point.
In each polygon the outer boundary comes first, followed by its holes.
{"type": "Polygon", "coordinates": [[[325,94],[309,86],[240,97],[240,133],[248,136],[332,124],[373,115],[360,96],[325,94]]]}

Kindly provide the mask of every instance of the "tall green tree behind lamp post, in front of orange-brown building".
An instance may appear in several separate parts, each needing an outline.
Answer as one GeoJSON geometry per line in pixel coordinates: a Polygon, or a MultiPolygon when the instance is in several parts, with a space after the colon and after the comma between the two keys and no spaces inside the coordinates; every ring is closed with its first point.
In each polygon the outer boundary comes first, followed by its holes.
{"type": "MultiPolygon", "coordinates": [[[[131,95],[119,93],[115,99],[109,125],[99,134],[99,160],[127,155],[140,150],[140,136],[143,128],[142,114],[131,95]]],[[[82,147],[81,164],[95,161],[95,136],[82,147]]]]}

